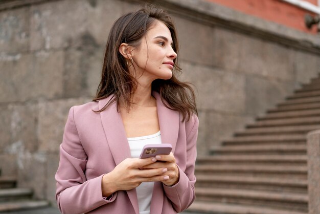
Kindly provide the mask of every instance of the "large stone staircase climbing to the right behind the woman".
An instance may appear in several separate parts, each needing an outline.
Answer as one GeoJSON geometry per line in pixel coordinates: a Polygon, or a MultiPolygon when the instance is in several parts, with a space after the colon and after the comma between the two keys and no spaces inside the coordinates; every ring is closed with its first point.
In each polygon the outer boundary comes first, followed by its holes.
{"type": "Polygon", "coordinates": [[[306,133],[320,129],[320,77],[198,157],[196,201],[188,211],[306,214],[306,133]]]}

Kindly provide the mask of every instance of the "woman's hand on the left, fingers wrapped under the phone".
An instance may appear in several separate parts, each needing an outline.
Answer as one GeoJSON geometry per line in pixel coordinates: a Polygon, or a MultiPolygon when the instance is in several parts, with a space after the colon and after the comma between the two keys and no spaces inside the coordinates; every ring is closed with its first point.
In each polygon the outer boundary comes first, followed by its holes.
{"type": "Polygon", "coordinates": [[[142,182],[162,181],[167,168],[140,169],[154,163],[155,158],[127,158],[102,178],[102,195],[108,197],[118,190],[129,190],[142,182]]]}

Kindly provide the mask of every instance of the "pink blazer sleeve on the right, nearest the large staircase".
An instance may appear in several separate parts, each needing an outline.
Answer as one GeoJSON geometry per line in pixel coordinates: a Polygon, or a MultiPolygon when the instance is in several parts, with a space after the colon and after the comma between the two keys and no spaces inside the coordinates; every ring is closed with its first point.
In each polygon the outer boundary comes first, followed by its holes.
{"type": "Polygon", "coordinates": [[[198,137],[199,119],[193,115],[191,121],[193,124],[190,131],[186,130],[187,134],[187,163],[185,171],[179,166],[179,181],[173,186],[164,186],[165,194],[172,202],[172,206],[176,212],[181,212],[187,209],[195,199],[194,184],[196,177],[194,175],[195,161],[197,157],[196,142],[198,137]]]}

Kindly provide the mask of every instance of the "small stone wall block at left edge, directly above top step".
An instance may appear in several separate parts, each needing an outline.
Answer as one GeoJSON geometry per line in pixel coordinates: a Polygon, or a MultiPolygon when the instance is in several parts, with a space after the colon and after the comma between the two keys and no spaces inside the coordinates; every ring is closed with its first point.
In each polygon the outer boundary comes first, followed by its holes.
{"type": "Polygon", "coordinates": [[[0,154],[0,176],[17,176],[17,156],[0,154]]]}

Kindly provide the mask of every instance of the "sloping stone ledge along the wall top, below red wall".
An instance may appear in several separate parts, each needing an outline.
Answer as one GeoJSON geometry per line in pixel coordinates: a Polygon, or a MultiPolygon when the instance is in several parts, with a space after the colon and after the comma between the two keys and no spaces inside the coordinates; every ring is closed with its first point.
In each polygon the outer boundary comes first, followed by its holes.
{"type": "MultiPolygon", "coordinates": [[[[125,1],[145,2],[142,0],[125,1]]],[[[212,2],[205,0],[149,0],[148,2],[161,5],[173,14],[203,24],[232,29],[264,40],[320,54],[320,35],[307,34],[212,2]]]]}

